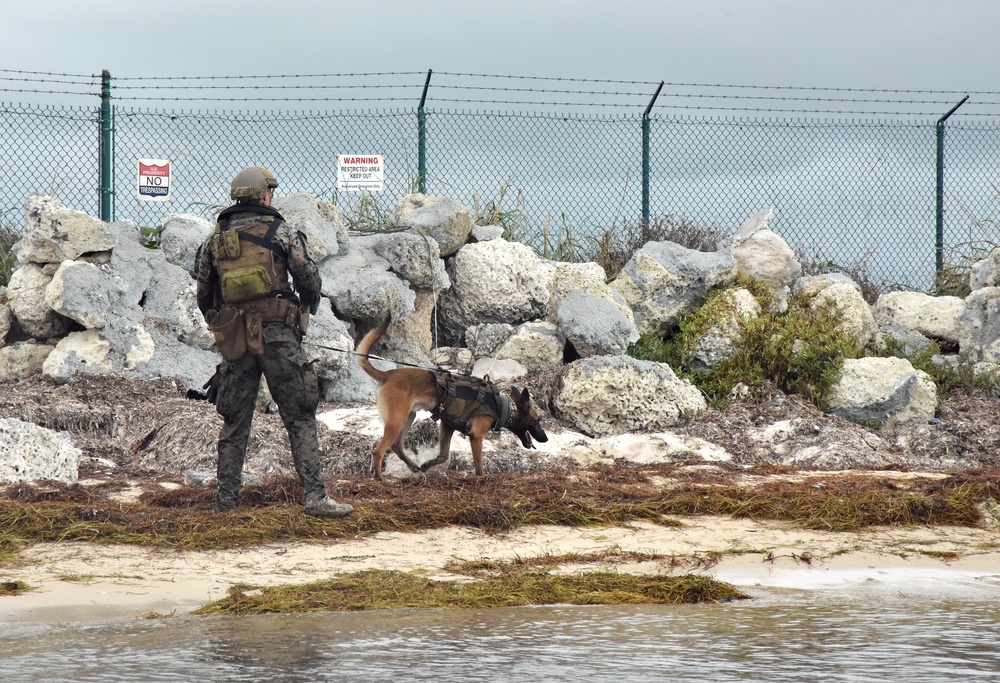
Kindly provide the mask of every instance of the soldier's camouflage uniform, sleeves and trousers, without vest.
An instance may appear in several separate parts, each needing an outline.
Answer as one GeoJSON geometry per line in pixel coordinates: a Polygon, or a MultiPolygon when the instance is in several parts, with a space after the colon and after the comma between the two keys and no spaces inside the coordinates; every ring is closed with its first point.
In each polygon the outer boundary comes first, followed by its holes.
{"type": "MultiPolygon", "coordinates": [[[[240,228],[260,220],[260,215],[256,213],[240,212],[232,216],[228,227],[240,228]]],[[[315,312],[322,281],[316,264],[306,251],[305,236],[283,223],[275,233],[274,241],[288,255],[288,273],[294,281],[301,305],[315,312]]],[[[222,306],[219,268],[208,240],[198,249],[192,274],[198,282],[198,308],[208,317],[210,311],[222,306]]],[[[294,298],[295,294],[288,292],[287,296],[294,298]]],[[[302,338],[297,329],[283,322],[270,322],[263,328],[263,338],[262,356],[247,353],[219,367],[215,405],[224,422],[219,434],[216,510],[236,507],[261,374],[267,380],[288,432],[292,458],[307,504],[310,499],[326,496],[320,476],[319,441],[316,436],[316,407],[319,405],[316,372],[302,350],[302,338]]]]}

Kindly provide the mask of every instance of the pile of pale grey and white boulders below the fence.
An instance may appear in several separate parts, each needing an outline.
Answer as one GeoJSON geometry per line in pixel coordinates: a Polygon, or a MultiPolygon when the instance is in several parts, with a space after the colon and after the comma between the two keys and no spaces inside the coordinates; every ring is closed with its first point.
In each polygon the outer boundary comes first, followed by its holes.
{"type": "MultiPolygon", "coordinates": [[[[595,263],[550,261],[502,239],[494,226],[474,225],[469,210],[447,198],[407,195],[397,205],[394,230],[363,235],[349,234],[335,206],[308,194],[279,198],[274,206],[307,235],[323,277],[323,300],[306,341],[328,402],[370,403],[375,384],[350,352],[388,317],[392,325],[375,349],[386,359],[445,365],[501,383],[548,370],[557,376],[549,409],[577,441],[620,437],[633,440],[625,451],[643,451],[635,435],[658,434],[663,457],[698,452],[664,433],[707,408],[701,393],[668,365],[625,351],[640,334],[668,334],[709,291],[740,276],[767,283],[779,309],[793,292],[808,294],[817,307],[832,302],[843,329],[862,343],[892,337],[919,351],[936,341],[951,352],[941,362],[992,371],[1000,362],[994,255],[973,268],[974,289],[965,299],[891,292],[869,306],[846,276],[801,277],[792,250],[768,227],[770,209],[713,252],[647,243],[608,282],[595,263]]],[[[197,216],[169,215],[159,244],[148,245],[130,222],[104,223],[51,197],[29,197],[17,267],[0,290],[0,380],[41,373],[65,383],[80,373],[108,373],[173,378],[192,395],[202,393],[221,358],[195,304],[190,270],[212,229],[197,216]]],[[[736,287],[726,296],[719,319],[699,340],[693,369],[732,354],[735,323],[760,315],[748,291],[736,287]]],[[[866,427],[903,429],[926,425],[936,408],[933,382],[908,361],[862,358],[845,364],[829,411],[866,427]]],[[[59,478],[51,468],[11,469],[10,454],[23,451],[25,440],[48,438],[29,436],[31,426],[5,422],[0,430],[0,463],[7,462],[0,481],[59,478]]],[[[786,427],[752,437],[780,441],[786,427]]],[[[617,453],[624,442],[616,443],[596,448],[617,453]]],[[[51,449],[52,462],[71,461],[65,444],[53,441],[51,449]]],[[[707,445],[701,452],[725,459],[707,445]]]]}

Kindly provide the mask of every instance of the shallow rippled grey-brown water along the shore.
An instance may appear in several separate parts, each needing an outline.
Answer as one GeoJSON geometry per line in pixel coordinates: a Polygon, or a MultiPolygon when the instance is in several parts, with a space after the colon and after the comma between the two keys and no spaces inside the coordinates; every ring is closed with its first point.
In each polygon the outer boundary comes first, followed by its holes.
{"type": "Polygon", "coordinates": [[[771,592],[724,605],[0,624],[21,681],[1000,681],[992,599],[771,592]]]}

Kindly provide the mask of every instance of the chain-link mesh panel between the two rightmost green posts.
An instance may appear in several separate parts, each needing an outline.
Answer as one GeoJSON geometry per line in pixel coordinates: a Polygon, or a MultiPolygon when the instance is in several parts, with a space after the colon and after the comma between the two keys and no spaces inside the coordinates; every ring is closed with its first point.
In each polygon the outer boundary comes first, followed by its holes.
{"type": "Polygon", "coordinates": [[[735,229],[773,207],[771,228],[807,258],[931,285],[933,125],[672,118],[655,122],[652,147],[662,212],[735,229]]]}

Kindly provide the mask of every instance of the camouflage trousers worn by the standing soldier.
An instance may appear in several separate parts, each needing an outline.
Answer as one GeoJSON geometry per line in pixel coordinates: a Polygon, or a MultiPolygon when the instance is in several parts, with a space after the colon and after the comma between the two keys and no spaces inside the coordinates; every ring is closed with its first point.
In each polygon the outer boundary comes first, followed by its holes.
{"type": "Polygon", "coordinates": [[[221,370],[215,402],[223,418],[219,433],[216,508],[228,510],[236,506],[262,374],[288,432],[292,460],[305,494],[325,494],[316,436],[319,382],[295,331],[280,323],[266,325],[264,354],[246,354],[232,363],[224,363],[221,370]]]}

